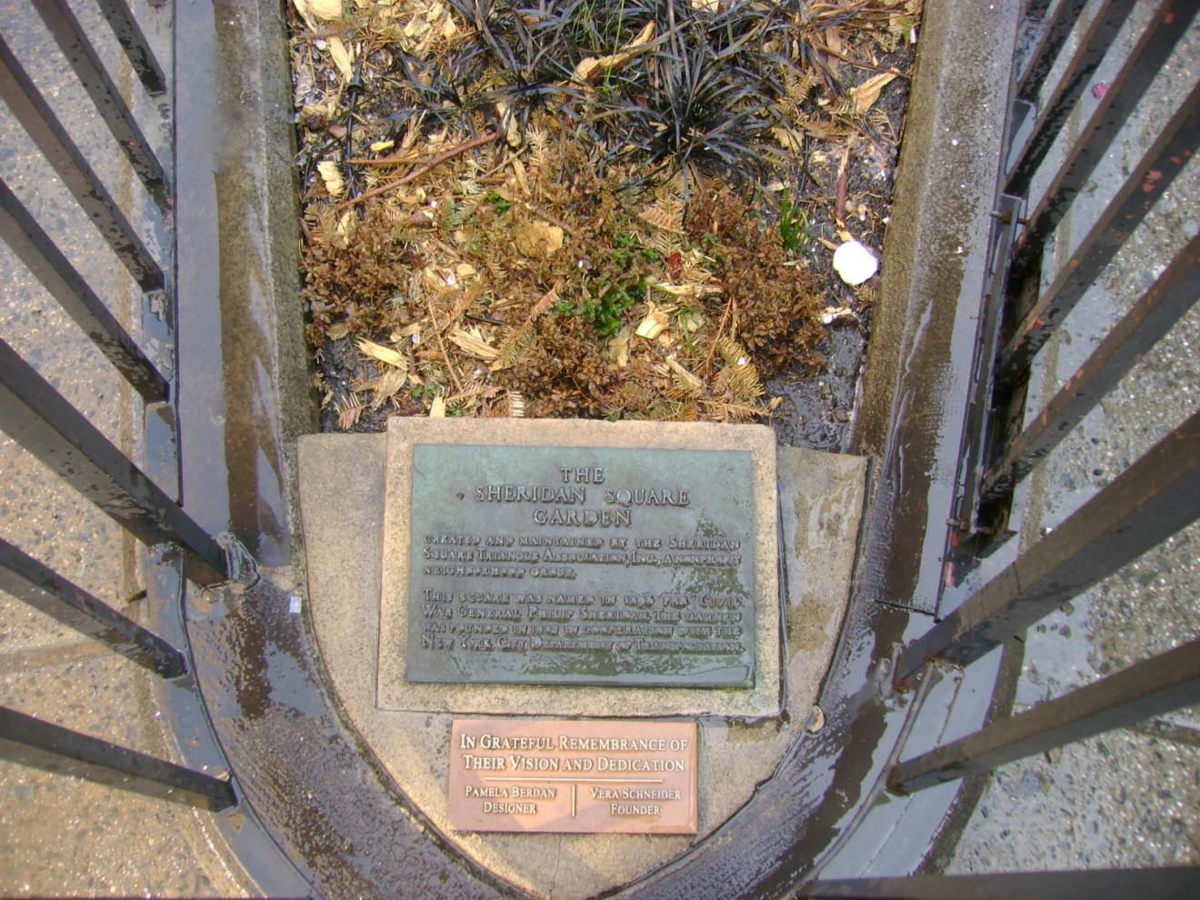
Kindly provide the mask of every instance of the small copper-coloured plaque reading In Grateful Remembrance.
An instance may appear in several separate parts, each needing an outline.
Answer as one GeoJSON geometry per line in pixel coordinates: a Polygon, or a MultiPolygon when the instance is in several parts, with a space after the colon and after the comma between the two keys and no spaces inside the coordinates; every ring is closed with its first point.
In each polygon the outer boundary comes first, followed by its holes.
{"type": "Polygon", "coordinates": [[[696,722],[456,719],[456,832],[696,833],[696,722]]]}

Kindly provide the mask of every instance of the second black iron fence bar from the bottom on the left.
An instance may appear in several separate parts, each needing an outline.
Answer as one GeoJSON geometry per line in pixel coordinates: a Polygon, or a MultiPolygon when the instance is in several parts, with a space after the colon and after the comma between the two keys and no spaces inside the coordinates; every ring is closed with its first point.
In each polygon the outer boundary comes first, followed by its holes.
{"type": "Polygon", "coordinates": [[[163,678],[187,672],[184,655],[169,643],[4,539],[0,589],[163,678]]]}

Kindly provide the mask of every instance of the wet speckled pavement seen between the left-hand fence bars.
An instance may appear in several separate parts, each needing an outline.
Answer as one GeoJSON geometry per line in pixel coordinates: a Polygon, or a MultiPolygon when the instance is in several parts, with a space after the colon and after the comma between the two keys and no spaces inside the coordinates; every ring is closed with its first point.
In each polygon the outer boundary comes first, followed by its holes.
{"type": "MultiPolygon", "coordinates": [[[[139,95],[95,5],[73,7],[88,31],[98,35],[102,56],[122,90],[139,95]]],[[[143,209],[144,192],[98,116],[83,112],[83,91],[30,6],[0,2],[0,31],[72,137],[90,148],[90,162],[109,192],[124,209],[143,209]]],[[[169,61],[169,28],[148,31],[169,61]]],[[[149,122],[151,143],[169,158],[169,122],[160,119],[156,107],[155,101],[142,100],[138,113],[149,122]]],[[[148,342],[131,278],[4,107],[0,172],[72,263],[89,272],[90,284],[112,312],[148,342]]],[[[131,218],[152,245],[152,223],[139,215],[131,218]]],[[[140,409],[130,389],[2,244],[0,272],[0,336],[109,440],[139,455],[140,409]]],[[[118,526],[64,490],[4,434],[0,534],[133,619],[148,622],[144,554],[118,526]]],[[[184,762],[179,733],[163,716],[167,707],[158,679],[4,593],[0,706],[184,762]]],[[[212,814],[7,761],[0,761],[0,894],[6,896],[238,896],[253,890],[212,814]]]]}

